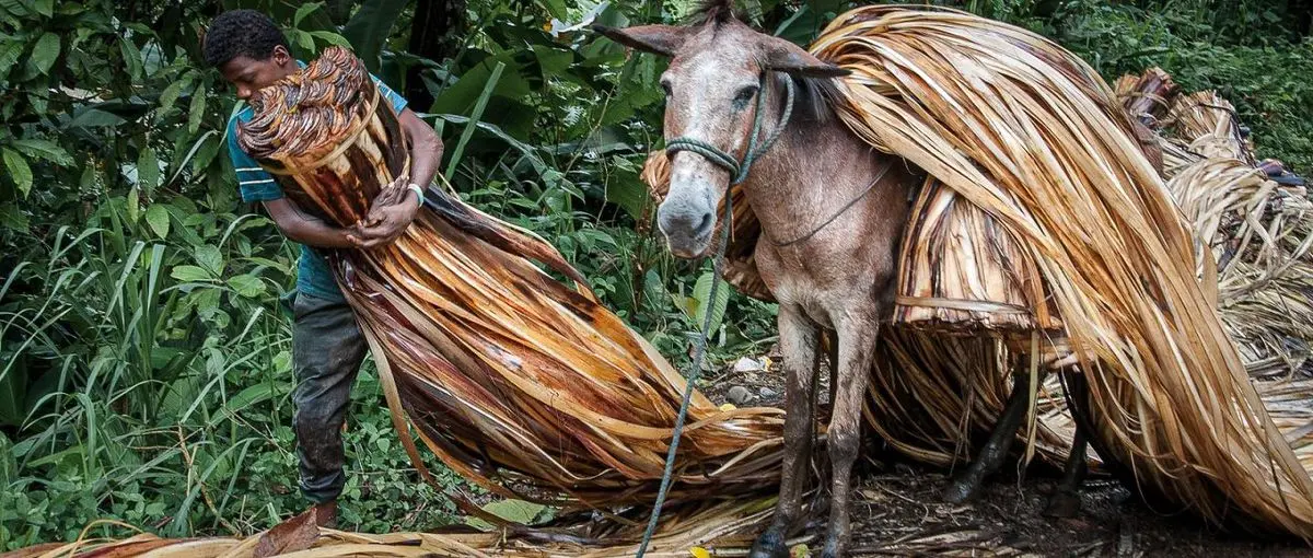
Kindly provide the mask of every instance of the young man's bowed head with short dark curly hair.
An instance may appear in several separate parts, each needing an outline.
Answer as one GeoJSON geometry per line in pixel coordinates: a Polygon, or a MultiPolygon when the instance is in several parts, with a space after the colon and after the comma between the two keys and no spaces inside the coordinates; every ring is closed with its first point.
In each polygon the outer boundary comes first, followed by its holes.
{"type": "Polygon", "coordinates": [[[214,18],[205,33],[205,62],[223,74],[242,100],[297,71],[282,30],[253,9],[235,9],[214,18]]]}

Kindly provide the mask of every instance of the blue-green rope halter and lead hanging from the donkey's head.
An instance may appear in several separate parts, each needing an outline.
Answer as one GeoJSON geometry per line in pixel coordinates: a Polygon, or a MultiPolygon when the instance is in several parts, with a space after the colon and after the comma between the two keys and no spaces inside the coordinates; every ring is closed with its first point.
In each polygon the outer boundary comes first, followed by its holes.
{"type": "MultiPolygon", "coordinates": [[[[666,142],[666,151],[668,154],[675,154],[678,151],[692,151],[706,158],[706,160],[716,163],[717,165],[725,168],[730,172],[733,182],[730,186],[743,182],[747,179],[748,169],[752,168],[752,163],[760,158],[771,146],[775,144],[776,139],[780,139],[780,134],[784,131],[784,126],[789,123],[789,118],[793,116],[793,79],[785,79],[785,105],[784,114],[780,116],[780,123],[775,127],[775,131],[767,138],[765,142],[758,147],[758,135],[762,131],[762,122],[765,119],[765,88],[767,77],[769,74],[762,75],[762,87],[758,92],[756,98],[756,114],[752,117],[752,135],[748,139],[747,152],[743,155],[743,164],[739,164],[734,156],[718,150],[710,143],[702,142],[695,138],[675,138],[666,142]]],[[[725,265],[725,248],[730,243],[730,228],[733,228],[734,210],[731,209],[729,188],[725,190],[725,219],[721,223],[721,246],[716,251],[716,260],[712,264],[714,274],[712,276],[712,291],[706,297],[708,303],[714,303],[716,294],[721,288],[721,272],[725,265]]],[[[670,490],[671,478],[675,471],[675,450],[679,448],[679,439],[684,433],[684,418],[688,415],[688,403],[693,397],[693,386],[697,383],[697,377],[702,373],[702,360],[706,357],[706,336],[708,330],[712,327],[712,311],[708,310],[706,316],[702,318],[702,331],[697,335],[697,341],[693,345],[693,369],[688,373],[688,383],[684,386],[684,402],[679,406],[679,415],[675,418],[675,429],[670,441],[670,450],[666,453],[666,471],[660,478],[660,488],[656,491],[656,503],[653,505],[651,517],[647,520],[647,530],[643,533],[643,541],[638,545],[638,558],[643,557],[647,551],[647,545],[651,544],[653,534],[656,532],[656,521],[660,519],[662,504],[666,503],[666,492],[670,490]]]]}

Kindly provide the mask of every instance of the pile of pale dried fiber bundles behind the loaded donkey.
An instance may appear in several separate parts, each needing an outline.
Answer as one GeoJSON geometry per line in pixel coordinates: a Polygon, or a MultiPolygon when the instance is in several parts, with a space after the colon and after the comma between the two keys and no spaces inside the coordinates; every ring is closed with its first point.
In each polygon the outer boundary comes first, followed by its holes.
{"type": "MultiPolygon", "coordinates": [[[[1140,88],[1162,81],[1145,72],[1140,88]]],[[[1119,91],[1123,100],[1141,89],[1119,91]]],[[[1313,356],[1313,202],[1279,161],[1254,163],[1230,102],[1213,92],[1163,96],[1167,188],[1191,223],[1196,268],[1217,263],[1217,305],[1251,376],[1287,376],[1313,356]]]]}

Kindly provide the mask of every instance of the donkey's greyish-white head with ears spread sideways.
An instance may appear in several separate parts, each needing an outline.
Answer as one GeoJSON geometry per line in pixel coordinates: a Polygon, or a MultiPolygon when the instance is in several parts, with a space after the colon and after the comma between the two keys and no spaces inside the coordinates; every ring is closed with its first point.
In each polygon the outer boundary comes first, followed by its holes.
{"type": "MultiPolygon", "coordinates": [[[[596,28],[625,46],[671,58],[660,76],[667,140],[692,139],[742,163],[758,118],[758,96],[762,87],[773,83],[763,76],[847,74],[788,41],[752,30],[733,17],[726,0],[709,4],[701,13],[702,21],[692,26],[596,28]]],[[[672,154],[670,193],[656,211],[656,225],[671,252],[695,257],[706,251],[716,228],[716,209],[733,179],[726,165],[713,163],[708,155],[689,150],[672,154]]]]}

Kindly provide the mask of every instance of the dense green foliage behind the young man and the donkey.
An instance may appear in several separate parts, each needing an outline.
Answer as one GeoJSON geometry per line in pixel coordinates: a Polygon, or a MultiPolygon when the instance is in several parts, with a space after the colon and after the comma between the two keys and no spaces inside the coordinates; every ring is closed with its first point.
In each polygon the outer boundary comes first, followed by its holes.
{"type": "MultiPolygon", "coordinates": [[[[303,505],[277,303],[297,251],[238,201],[221,150],[235,100],[198,64],[197,42],[219,4],[0,0],[0,550],[74,538],[101,517],[249,533],[303,505]]],[[[688,3],[448,3],[466,21],[440,59],[406,51],[424,22],[412,4],[222,8],[269,11],[303,59],[349,42],[431,101],[412,106],[442,131],[462,196],[554,243],[672,360],[687,362],[692,316],[708,306],[725,316],[720,360],[771,341],[769,306],[706,301],[706,268],[641,232],[637,173],[660,140],[662,62],[570,29],[674,21],[688,3]]],[[[743,4],[800,43],[850,5],[743,4]]],[[[1313,38],[1299,0],[949,4],[1053,37],[1109,79],[1159,64],[1188,89],[1218,88],[1260,155],[1313,173],[1313,38]]],[[[345,526],[457,520],[410,469],[369,365],[356,387],[345,526]]]]}

